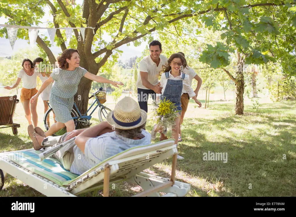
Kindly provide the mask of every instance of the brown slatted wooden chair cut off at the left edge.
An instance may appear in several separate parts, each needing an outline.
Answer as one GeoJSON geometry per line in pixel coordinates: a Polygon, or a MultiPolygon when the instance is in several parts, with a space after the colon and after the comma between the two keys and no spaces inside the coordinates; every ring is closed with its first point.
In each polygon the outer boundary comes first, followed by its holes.
{"type": "Polygon", "coordinates": [[[0,129],[11,127],[14,135],[17,135],[17,128],[20,127],[20,124],[13,123],[12,120],[18,102],[17,95],[0,97],[0,126],[3,126],[0,129]]]}

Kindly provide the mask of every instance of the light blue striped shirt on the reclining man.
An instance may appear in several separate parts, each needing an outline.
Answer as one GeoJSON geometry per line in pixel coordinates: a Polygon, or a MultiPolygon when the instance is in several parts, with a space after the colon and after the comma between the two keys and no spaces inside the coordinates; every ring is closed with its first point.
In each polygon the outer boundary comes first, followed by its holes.
{"type": "Polygon", "coordinates": [[[104,133],[101,136],[90,138],[85,143],[84,153],[74,147],[74,161],[70,172],[81,175],[105,159],[114,156],[122,151],[135,146],[151,144],[151,135],[146,130],[142,130],[144,138],[134,140],[117,135],[116,132],[104,133]]]}

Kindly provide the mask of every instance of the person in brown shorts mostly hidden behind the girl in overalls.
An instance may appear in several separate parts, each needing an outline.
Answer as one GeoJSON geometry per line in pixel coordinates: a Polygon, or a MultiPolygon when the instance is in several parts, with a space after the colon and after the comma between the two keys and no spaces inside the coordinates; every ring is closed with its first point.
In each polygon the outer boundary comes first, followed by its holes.
{"type": "MultiPolygon", "coordinates": [[[[185,57],[184,53],[182,53],[182,52],[178,52],[178,53],[181,53],[185,57]]],[[[202,79],[189,66],[186,66],[184,68],[183,73],[189,75],[189,85],[190,85],[190,87],[192,86],[192,80],[193,79],[197,80],[197,86],[196,86],[196,89],[194,90],[195,96],[197,97],[198,91],[200,90],[200,87],[202,86],[202,79]]],[[[183,94],[181,96],[182,112],[181,112],[180,123],[179,123],[179,139],[178,139],[179,142],[182,141],[181,124],[183,123],[184,115],[185,115],[185,112],[186,112],[188,104],[189,104],[189,99],[190,99],[189,94],[183,88],[183,94]]]]}

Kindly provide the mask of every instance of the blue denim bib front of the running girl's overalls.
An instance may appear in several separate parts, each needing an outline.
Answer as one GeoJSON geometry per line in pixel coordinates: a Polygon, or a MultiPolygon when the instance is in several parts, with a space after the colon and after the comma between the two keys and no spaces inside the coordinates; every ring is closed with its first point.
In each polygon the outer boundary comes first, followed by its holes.
{"type": "Polygon", "coordinates": [[[170,99],[171,102],[180,102],[182,89],[182,80],[168,79],[167,84],[165,86],[165,91],[161,95],[160,99],[164,99],[166,97],[167,99],[170,99]]]}

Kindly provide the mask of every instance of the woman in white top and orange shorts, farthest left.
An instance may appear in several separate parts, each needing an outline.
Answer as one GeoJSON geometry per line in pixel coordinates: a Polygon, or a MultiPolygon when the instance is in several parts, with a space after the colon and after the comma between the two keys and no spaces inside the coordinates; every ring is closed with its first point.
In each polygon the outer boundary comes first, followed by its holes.
{"type": "Polygon", "coordinates": [[[6,86],[5,89],[11,90],[13,88],[16,88],[22,79],[22,90],[20,92],[20,101],[22,103],[22,106],[25,110],[25,117],[29,122],[29,125],[33,124],[34,127],[37,127],[38,125],[38,115],[36,111],[37,103],[30,103],[30,99],[32,96],[34,96],[38,90],[37,87],[37,76],[39,76],[38,71],[34,70],[34,65],[31,60],[24,59],[22,61],[22,70],[18,74],[17,81],[14,85],[6,86]],[[32,115],[31,115],[32,114],[32,115]],[[32,120],[31,120],[32,119],[32,120]]]}

